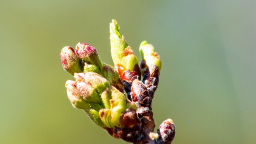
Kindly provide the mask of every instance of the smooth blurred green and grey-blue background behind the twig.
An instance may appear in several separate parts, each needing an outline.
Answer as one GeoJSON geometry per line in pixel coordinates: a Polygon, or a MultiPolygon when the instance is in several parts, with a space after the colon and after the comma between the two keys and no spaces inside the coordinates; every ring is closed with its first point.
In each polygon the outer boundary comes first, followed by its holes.
{"type": "Polygon", "coordinates": [[[156,128],[172,118],[173,144],[256,143],[255,0],[0,0],[0,144],[125,144],[66,96],[59,58],[87,42],[113,65],[116,19],[141,60],[162,60],[156,128]]]}

